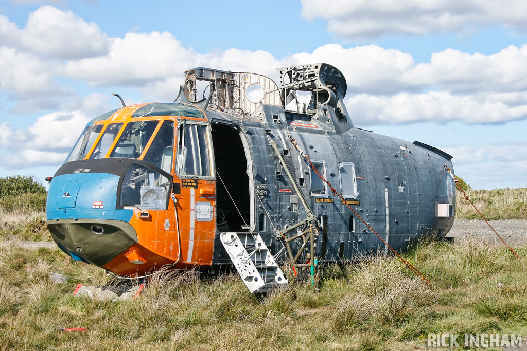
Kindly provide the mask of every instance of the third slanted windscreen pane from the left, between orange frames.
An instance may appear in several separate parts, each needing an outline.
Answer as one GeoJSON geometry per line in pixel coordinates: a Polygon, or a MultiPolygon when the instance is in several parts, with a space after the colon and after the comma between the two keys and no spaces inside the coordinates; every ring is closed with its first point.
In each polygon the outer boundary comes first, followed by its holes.
{"type": "Polygon", "coordinates": [[[139,121],[127,124],[110,157],[139,158],[158,123],[158,121],[139,121]]]}

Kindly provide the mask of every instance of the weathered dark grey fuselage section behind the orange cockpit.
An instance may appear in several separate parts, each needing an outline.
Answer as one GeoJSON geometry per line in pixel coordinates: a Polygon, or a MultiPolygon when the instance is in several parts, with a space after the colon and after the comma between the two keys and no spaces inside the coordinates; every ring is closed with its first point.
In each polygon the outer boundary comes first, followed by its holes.
{"type": "MultiPolygon", "coordinates": [[[[317,74],[322,75],[322,67],[317,74]]],[[[329,68],[335,70],[332,66],[329,68]]],[[[311,113],[305,106],[299,109],[301,112],[291,112],[283,105],[261,104],[259,118],[253,119],[222,112],[220,108],[207,109],[213,138],[216,133],[215,153],[224,144],[225,147],[232,147],[229,144],[232,138],[239,137],[240,145],[243,145],[243,155],[239,155],[239,147],[236,149],[238,152],[232,150],[232,157],[245,158],[247,173],[233,171],[226,177],[231,179],[227,188],[232,189],[233,184],[239,183],[240,188],[235,192],[248,195],[248,201],[242,203],[243,208],[240,209],[243,212],[240,216],[246,219],[244,230],[259,232],[271,252],[277,254],[283,248],[280,242],[283,239],[277,232],[301,222],[307,216],[292,184],[296,182],[320,225],[315,252],[319,263],[324,260],[352,260],[364,254],[383,253],[386,249],[368,226],[328,188],[325,193],[311,192],[312,182],[320,186],[317,183],[319,180],[313,179],[316,175],[290,142],[291,136],[311,161],[324,165],[325,178],[338,192],[343,191],[341,166],[353,166],[356,193],[354,197],[345,198],[356,213],[395,250],[404,251],[415,238],[446,235],[453,224],[455,211],[455,184],[444,168],[444,165],[452,168],[451,157],[422,143],[406,142],[355,128],[342,104],[345,88],[344,92],[339,91],[337,84],[331,85],[327,81],[326,85],[330,86],[335,96],[333,99],[318,98],[313,93],[320,104],[315,110],[311,109],[311,113]],[[231,133],[227,133],[229,130],[231,133]],[[221,135],[229,141],[222,141],[221,135]],[[288,177],[280,165],[271,142],[278,145],[294,179],[288,177]],[[232,177],[239,179],[232,180],[232,177]],[[248,184],[243,183],[244,177],[248,184]]],[[[284,82],[281,83],[283,86],[284,82]]],[[[282,91],[282,98],[287,98],[287,91],[282,91]]],[[[221,168],[219,162],[222,161],[217,158],[217,169],[221,168]]],[[[228,169],[223,172],[228,172],[228,169]]],[[[220,183],[221,180],[217,179],[217,184],[220,183]]],[[[218,190],[218,197],[221,196],[226,195],[221,195],[218,190]]],[[[229,207],[226,212],[233,212],[229,201],[226,199],[223,202],[229,207]]],[[[236,202],[236,196],[233,201],[236,202]]],[[[220,217],[221,207],[218,203],[217,215],[220,217]]],[[[213,264],[231,262],[218,236],[221,232],[241,231],[232,227],[218,225],[213,264]]],[[[296,232],[293,231],[290,236],[294,234],[296,232]]],[[[290,244],[293,251],[295,248],[298,250],[301,238],[290,244]]],[[[285,257],[280,255],[281,260],[285,257]]]]}

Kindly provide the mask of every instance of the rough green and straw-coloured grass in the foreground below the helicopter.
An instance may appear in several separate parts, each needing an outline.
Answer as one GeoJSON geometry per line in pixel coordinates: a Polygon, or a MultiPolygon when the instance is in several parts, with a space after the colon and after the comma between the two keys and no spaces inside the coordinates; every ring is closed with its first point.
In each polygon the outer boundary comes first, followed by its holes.
{"type": "MultiPolygon", "coordinates": [[[[526,248],[516,251],[527,256],[526,248]]],[[[525,330],[527,269],[506,250],[433,242],[407,258],[435,292],[396,259],[365,257],[324,267],[318,287],[297,280],[252,295],[236,274],[162,272],[139,297],[113,302],[71,295],[79,283],[118,284],[102,269],[58,249],[3,242],[0,349],[399,350],[424,347],[427,333],[525,330]],[[65,327],[87,331],[57,329],[65,327]]]]}

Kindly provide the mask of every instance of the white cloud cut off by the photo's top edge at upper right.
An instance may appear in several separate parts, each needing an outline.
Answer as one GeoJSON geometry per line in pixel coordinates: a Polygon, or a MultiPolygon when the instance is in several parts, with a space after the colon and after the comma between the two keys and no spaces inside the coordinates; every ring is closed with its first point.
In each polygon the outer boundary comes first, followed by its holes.
{"type": "Polygon", "coordinates": [[[494,0],[301,0],[301,4],[304,18],[326,19],[330,32],[349,39],[464,32],[471,26],[527,29],[527,4],[522,0],[506,4],[494,0]]]}

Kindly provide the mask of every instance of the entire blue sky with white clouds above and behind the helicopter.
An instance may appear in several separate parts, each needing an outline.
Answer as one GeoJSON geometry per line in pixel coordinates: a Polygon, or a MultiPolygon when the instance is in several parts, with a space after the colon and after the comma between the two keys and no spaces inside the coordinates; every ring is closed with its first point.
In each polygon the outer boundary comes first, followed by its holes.
{"type": "Polygon", "coordinates": [[[492,0],[0,2],[0,176],[53,175],[89,119],[171,101],[196,66],[276,78],[327,62],[355,126],[527,187],[527,5],[492,0]]]}

